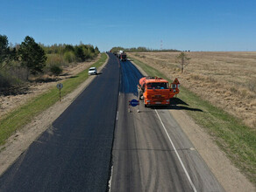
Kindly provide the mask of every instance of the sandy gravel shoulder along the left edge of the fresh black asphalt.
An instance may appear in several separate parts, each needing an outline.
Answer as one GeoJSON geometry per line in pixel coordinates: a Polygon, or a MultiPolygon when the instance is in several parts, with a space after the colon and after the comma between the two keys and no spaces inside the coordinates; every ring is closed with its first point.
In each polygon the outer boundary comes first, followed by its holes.
{"type": "MultiPolygon", "coordinates": [[[[109,57],[106,62],[98,69],[98,72],[101,72],[103,67],[107,64],[109,57]]],[[[88,65],[91,65],[89,63],[88,65]]],[[[71,70],[69,73],[71,75],[82,72],[88,65],[77,66],[75,69],[71,70]]],[[[48,127],[51,127],[54,120],[56,120],[61,113],[63,113],[68,106],[75,100],[77,96],[82,93],[84,89],[89,85],[89,83],[96,76],[89,76],[89,79],[84,81],[80,86],[78,86],[73,93],[69,93],[66,97],[64,97],[61,102],[55,103],[50,108],[46,109],[43,113],[40,113],[36,118],[32,120],[31,123],[27,124],[24,128],[19,130],[16,134],[13,134],[8,141],[4,144],[4,146],[0,147],[0,175],[4,173],[4,171],[11,166],[11,164],[16,161],[20,154],[25,153],[27,147],[29,147],[33,141],[35,141],[40,134],[42,134],[48,127]]],[[[47,88],[55,86],[48,85],[47,88]]],[[[47,90],[46,88],[46,90],[47,90]]],[[[33,93],[39,94],[39,93],[33,93]]]]}

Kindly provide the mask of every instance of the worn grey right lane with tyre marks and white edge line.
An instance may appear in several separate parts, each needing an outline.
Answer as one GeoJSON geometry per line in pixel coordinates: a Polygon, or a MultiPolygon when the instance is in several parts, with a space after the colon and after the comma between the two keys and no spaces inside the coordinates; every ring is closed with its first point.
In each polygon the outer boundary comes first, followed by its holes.
{"type": "Polygon", "coordinates": [[[121,68],[110,191],[224,191],[167,109],[129,112],[142,75],[129,61],[121,68]]]}

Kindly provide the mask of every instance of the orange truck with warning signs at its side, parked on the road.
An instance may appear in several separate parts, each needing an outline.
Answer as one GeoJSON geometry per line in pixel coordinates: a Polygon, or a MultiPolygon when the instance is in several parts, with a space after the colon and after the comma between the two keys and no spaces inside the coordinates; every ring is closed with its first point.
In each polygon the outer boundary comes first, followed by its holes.
{"type": "Polygon", "coordinates": [[[170,99],[180,92],[179,86],[178,79],[169,86],[166,79],[144,77],[139,79],[139,99],[144,100],[145,106],[167,106],[170,104],[170,99]]]}

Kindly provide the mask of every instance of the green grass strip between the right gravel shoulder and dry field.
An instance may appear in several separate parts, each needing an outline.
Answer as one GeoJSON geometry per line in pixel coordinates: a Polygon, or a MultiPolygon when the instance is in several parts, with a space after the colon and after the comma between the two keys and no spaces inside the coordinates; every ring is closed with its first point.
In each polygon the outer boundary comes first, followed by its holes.
{"type": "MultiPolygon", "coordinates": [[[[132,60],[148,75],[167,79],[153,67],[142,63],[138,59],[132,58],[132,60]]],[[[171,81],[170,79],[168,80],[171,81]]],[[[231,116],[231,114],[212,106],[210,102],[201,99],[195,93],[191,93],[182,85],[179,99],[188,105],[179,106],[183,106],[184,110],[187,109],[188,115],[214,138],[217,145],[227,154],[231,162],[255,185],[256,131],[246,127],[241,120],[231,116]]]]}

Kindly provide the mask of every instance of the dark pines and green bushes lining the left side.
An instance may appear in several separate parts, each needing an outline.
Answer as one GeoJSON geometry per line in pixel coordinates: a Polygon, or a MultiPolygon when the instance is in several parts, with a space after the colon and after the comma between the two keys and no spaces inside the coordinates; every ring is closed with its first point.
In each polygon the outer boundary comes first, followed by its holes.
{"type": "Polygon", "coordinates": [[[17,86],[39,74],[60,75],[65,65],[96,58],[99,49],[93,45],[43,45],[26,36],[21,44],[12,45],[0,35],[0,91],[17,86]]]}

